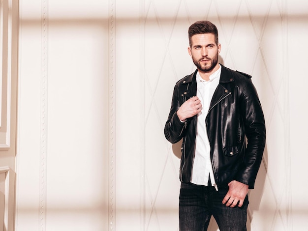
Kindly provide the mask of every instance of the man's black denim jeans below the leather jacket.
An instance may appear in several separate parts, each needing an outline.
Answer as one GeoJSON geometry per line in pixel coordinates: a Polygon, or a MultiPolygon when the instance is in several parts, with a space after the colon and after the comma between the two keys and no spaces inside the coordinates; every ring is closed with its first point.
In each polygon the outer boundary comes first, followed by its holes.
{"type": "Polygon", "coordinates": [[[248,196],[242,207],[222,204],[228,188],[182,183],[180,190],[180,231],[206,231],[213,215],[220,231],[246,231],[248,196]]]}

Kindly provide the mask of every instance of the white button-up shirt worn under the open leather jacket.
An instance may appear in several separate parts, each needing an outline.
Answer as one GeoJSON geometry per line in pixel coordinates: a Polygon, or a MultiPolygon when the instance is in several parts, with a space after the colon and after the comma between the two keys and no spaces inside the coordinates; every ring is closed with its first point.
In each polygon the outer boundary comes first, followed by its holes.
{"type": "MultiPolygon", "coordinates": [[[[219,84],[221,66],[210,76],[209,81],[205,81],[197,72],[197,96],[201,101],[202,110],[197,115],[197,134],[195,158],[192,167],[191,183],[208,186],[209,175],[211,177],[212,186],[216,186],[211,158],[210,158],[210,142],[207,134],[205,118],[208,114],[213,94],[219,84]]],[[[217,188],[216,188],[217,189],[217,188]]]]}

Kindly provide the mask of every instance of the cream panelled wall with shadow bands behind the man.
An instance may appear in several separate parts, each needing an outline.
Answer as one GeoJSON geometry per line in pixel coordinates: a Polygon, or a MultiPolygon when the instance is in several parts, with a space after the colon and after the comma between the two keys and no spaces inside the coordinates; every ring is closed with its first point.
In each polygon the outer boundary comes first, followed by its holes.
{"type": "Polygon", "coordinates": [[[304,0],[20,0],[16,231],[178,230],[163,127],[203,19],[266,117],[248,230],[305,230],[307,15],[304,0]]]}

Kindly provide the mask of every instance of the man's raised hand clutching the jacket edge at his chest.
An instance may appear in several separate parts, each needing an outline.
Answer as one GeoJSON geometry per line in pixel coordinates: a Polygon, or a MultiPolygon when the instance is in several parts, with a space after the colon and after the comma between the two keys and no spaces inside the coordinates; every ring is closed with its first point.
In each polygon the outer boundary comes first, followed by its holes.
{"type": "Polygon", "coordinates": [[[197,96],[194,96],[181,105],[177,111],[177,115],[181,121],[185,121],[185,119],[197,115],[201,112],[201,109],[202,105],[200,99],[197,96]]]}

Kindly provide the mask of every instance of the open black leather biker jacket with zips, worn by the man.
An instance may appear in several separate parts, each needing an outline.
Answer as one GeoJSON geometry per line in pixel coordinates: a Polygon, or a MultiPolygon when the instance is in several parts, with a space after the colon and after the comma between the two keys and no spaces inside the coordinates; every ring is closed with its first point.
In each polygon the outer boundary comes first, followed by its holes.
{"type": "MultiPolygon", "coordinates": [[[[197,116],[182,123],[180,106],[197,94],[197,70],[174,87],[164,133],[172,144],[183,138],[180,180],[190,182],[194,161],[197,116]]],[[[265,121],[251,76],[221,65],[218,87],[205,123],[211,146],[211,161],[219,187],[232,180],[254,187],[265,146],[265,121]],[[246,143],[247,141],[247,143],[246,143]]]]}

